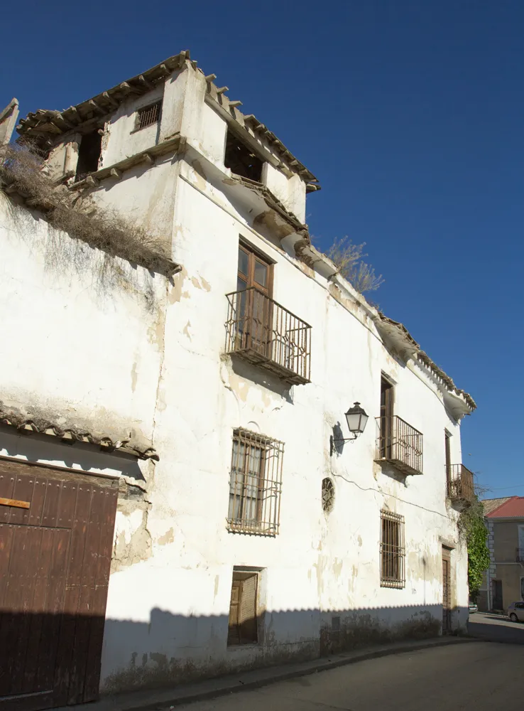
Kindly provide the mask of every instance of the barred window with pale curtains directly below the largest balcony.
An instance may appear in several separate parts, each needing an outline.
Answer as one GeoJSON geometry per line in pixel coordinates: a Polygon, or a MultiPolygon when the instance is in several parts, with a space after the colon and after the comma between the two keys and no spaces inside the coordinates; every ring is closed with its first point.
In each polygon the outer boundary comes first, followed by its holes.
{"type": "Polygon", "coordinates": [[[283,454],[283,442],[246,429],[234,430],[228,530],[278,533],[283,454]]]}

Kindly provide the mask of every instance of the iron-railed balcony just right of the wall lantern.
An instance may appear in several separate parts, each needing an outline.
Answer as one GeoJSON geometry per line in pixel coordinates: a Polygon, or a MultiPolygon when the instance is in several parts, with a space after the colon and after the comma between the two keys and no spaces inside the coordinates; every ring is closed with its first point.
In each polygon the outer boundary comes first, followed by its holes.
{"type": "Polygon", "coordinates": [[[376,459],[402,474],[422,474],[422,434],[392,415],[377,417],[376,459]]]}

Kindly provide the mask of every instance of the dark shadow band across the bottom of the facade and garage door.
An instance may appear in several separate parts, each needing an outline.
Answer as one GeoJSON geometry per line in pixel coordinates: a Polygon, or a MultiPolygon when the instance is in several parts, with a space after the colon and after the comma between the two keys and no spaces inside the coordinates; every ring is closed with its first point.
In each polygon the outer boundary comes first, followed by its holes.
{"type": "MultiPolygon", "coordinates": [[[[466,632],[467,619],[467,609],[452,611],[454,634],[466,632]]],[[[442,634],[442,606],[266,611],[258,619],[258,643],[231,646],[228,624],[225,614],[183,616],[158,608],[148,621],[2,610],[0,707],[5,697],[14,702],[17,696],[41,695],[41,705],[32,702],[34,711],[94,700],[99,685],[102,694],[167,688],[431,638],[442,634]]]]}

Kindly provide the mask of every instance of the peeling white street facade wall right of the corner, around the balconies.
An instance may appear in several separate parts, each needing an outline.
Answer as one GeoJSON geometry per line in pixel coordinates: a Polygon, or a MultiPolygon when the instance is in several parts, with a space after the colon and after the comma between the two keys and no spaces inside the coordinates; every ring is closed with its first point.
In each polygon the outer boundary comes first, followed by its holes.
{"type": "Polygon", "coordinates": [[[420,369],[388,353],[361,306],[319,274],[305,274],[278,240],[253,232],[249,211],[219,194],[201,165],[182,164],[181,176],[173,244],[184,269],[166,314],[155,416],[161,458],[148,492],[151,555],[111,576],[102,688],[175,683],[373,640],[439,634],[442,540],[454,546],[453,624],[463,628],[466,555],[444,475],[444,428],[458,463],[459,424],[420,369]],[[236,289],[239,235],[275,260],[275,300],[312,324],[309,385],[290,388],[223,355],[225,294],[236,289]],[[373,462],[381,371],[397,384],[395,412],[424,433],[422,476],[398,476],[373,462]],[[329,434],[337,422],[345,431],[344,412],[354,400],[369,412],[366,432],[330,457],[329,434]],[[226,531],[231,436],[239,426],[285,442],[275,539],[226,531]],[[321,507],[324,476],[336,487],[329,515],[321,507]],[[380,587],[381,508],[405,516],[404,589],[380,587]],[[258,646],[226,646],[234,565],[264,571],[258,646]],[[336,633],[333,616],[340,618],[336,633]]]}

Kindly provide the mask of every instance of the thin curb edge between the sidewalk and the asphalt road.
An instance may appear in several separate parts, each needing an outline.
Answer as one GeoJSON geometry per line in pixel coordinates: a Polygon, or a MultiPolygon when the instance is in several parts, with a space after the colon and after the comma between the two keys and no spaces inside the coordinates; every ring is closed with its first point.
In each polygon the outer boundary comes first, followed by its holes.
{"type": "MultiPolygon", "coordinates": [[[[270,684],[278,683],[279,681],[287,681],[289,679],[298,678],[300,676],[307,676],[309,674],[320,673],[322,671],[328,671],[330,669],[336,669],[341,666],[355,664],[357,662],[367,661],[369,659],[378,659],[380,657],[391,656],[394,654],[405,654],[408,652],[418,651],[419,649],[429,649],[432,647],[444,647],[451,644],[466,644],[469,642],[478,641],[474,637],[460,636],[460,637],[444,637],[438,639],[437,641],[427,641],[427,642],[414,642],[413,644],[408,644],[405,646],[391,646],[378,649],[368,649],[362,653],[356,653],[347,657],[339,657],[337,659],[320,658],[316,664],[311,666],[305,666],[302,669],[289,669],[285,668],[282,671],[276,671],[273,675],[261,678],[253,679],[251,681],[242,682],[236,680],[236,682],[228,682],[226,685],[214,689],[202,690],[200,692],[196,691],[193,693],[188,693],[187,695],[180,695],[179,693],[173,699],[162,700],[161,702],[152,701],[145,702],[138,705],[122,705],[118,708],[118,711],[164,711],[169,709],[169,707],[182,706],[184,704],[190,704],[197,701],[204,701],[209,699],[216,699],[221,696],[226,696],[228,694],[238,693],[241,691],[259,689],[263,686],[268,686],[270,684]],[[324,661],[325,660],[325,661],[324,661]]],[[[219,680],[217,679],[217,683],[219,680]]],[[[116,711],[116,707],[115,707],[116,711]]]]}

